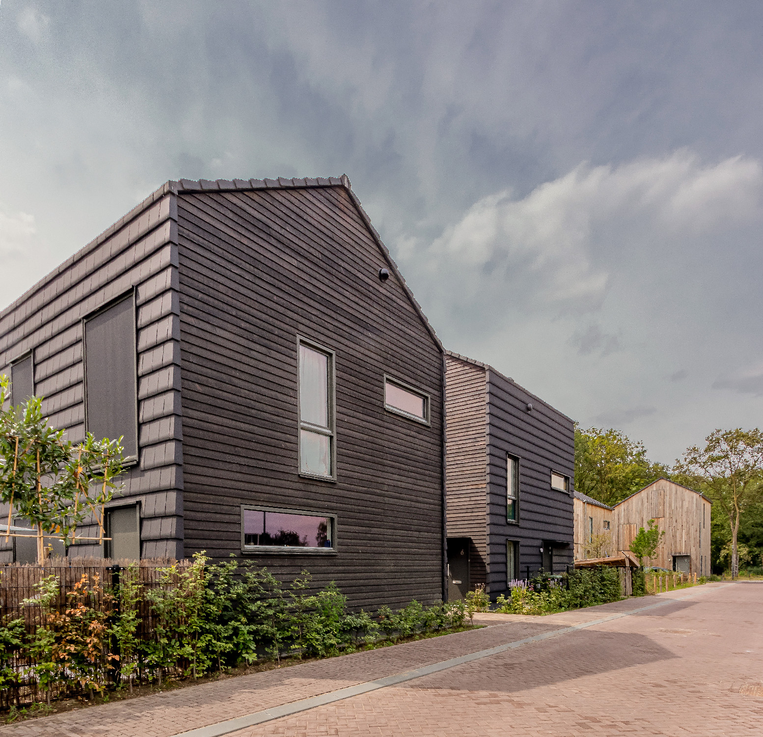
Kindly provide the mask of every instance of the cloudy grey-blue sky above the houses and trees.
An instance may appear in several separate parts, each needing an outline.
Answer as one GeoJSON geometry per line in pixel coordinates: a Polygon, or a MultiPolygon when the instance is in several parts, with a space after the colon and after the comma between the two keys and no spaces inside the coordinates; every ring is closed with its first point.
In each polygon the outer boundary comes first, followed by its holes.
{"type": "Polygon", "coordinates": [[[672,462],[763,409],[763,3],[0,4],[0,306],[167,179],[339,176],[446,347],[672,462]]]}

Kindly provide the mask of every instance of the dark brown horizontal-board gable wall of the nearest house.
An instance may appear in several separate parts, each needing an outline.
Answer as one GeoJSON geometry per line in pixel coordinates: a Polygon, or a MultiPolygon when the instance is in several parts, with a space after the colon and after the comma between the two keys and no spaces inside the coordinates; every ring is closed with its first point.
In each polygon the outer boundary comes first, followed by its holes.
{"type": "Polygon", "coordinates": [[[353,606],[443,596],[439,345],[342,186],[179,196],[185,551],[240,555],[240,505],[337,515],[307,569],[353,606]],[[336,483],[298,475],[298,335],[336,351],[336,483]],[[431,397],[386,412],[384,374],[431,397]]]}

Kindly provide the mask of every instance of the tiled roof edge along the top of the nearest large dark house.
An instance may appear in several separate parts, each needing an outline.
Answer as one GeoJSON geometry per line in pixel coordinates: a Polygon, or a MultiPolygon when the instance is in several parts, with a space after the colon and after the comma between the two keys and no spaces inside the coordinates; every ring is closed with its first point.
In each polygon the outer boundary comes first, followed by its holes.
{"type": "Polygon", "coordinates": [[[130,212],[127,213],[127,215],[119,218],[119,220],[116,221],[114,225],[106,228],[106,230],[98,235],[97,238],[94,238],[85,247],[80,248],[79,251],[66,259],[66,261],[61,263],[53,271],[47,274],[47,276],[43,276],[39,282],[37,282],[30,289],[27,289],[27,291],[24,292],[24,294],[22,294],[18,299],[15,299],[14,302],[11,302],[10,305],[0,311],[0,319],[4,318],[5,315],[8,315],[8,313],[12,312],[14,309],[17,309],[28,299],[31,299],[36,293],[40,291],[40,289],[43,289],[44,286],[55,279],[56,276],[58,276],[69,267],[72,267],[74,263],[77,263],[79,260],[85,258],[91,251],[103,243],[107,238],[111,238],[114,233],[121,230],[121,228],[124,228],[125,225],[130,223],[130,221],[133,221],[135,218],[137,218],[141,212],[168,194],[178,195],[187,193],[190,194],[192,192],[251,192],[256,189],[309,189],[336,186],[346,189],[346,192],[349,194],[350,199],[352,199],[353,204],[355,205],[358,214],[360,215],[360,218],[365,223],[366,227],[369,228],[372,237],[380,248],[381,253],[384,255],[384,258],[392,270],[392,273],[394,273],[394,275],[397,276],[400,280],[407,298],[414,306],[414,309],[423,322],[424,327],[427,328],[427,331],[432,336],[439,350],[444,352],[445,349],[443,344],[439,341],[434,328],[432,325],[430,325],[429,320],[427,320],[427,316],[424,315],[423,310],[421,309],[421,305],[417,302],[417,299],[410,291],[407,283],[405,283],[403,275],[398,269],[398,265],[394,263],[388,248],[381,241],[381,237],[372,225],[371,219],[365,213],[365,210],[360,204],[360,200],[356,196],[355,192],[353,192],[352,186],[349,183],[349,178],[346,174],[343,174],[342,176],[330,176],[328,178],[316,177],[312,179],[310,177],[305,177],[304,179],[299,179],[297,177],[287,179],[283,176],[279,176],[277,179],[198,179],[198,181],[194,179],[179,179],[177,181],[170,179],[169,182],[164,183],[162,186],[152,192],[148,197],[146,197],[146,199],[144,199],[140,205],[136,205],[134,208],[132,208],[130,212]]]}

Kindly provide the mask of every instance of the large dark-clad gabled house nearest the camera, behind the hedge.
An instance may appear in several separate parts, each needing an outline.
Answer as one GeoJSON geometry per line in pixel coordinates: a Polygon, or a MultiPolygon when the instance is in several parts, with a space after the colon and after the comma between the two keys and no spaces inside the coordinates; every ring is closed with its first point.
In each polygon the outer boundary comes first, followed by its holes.
{"type": "Polygon", "coordinates": [[[0,373],[124,436],[112,540],[70,554],[443,596],[443,351],[346,176],[166,183],[0,313],[0,373]]]}

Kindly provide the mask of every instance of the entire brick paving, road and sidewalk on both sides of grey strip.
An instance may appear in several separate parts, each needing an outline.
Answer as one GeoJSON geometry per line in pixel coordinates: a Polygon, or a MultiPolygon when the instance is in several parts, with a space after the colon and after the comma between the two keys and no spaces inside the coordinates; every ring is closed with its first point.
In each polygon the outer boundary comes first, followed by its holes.
{"type": "MultiPolygon", "coordinates": [[[[235,735],[761,735],[763,584],[694,591],[703,593],[235,735]]],[[[506,617],[478,631],[36,719],[0,733],[169,737],[654,601],[506,617]]]]}

